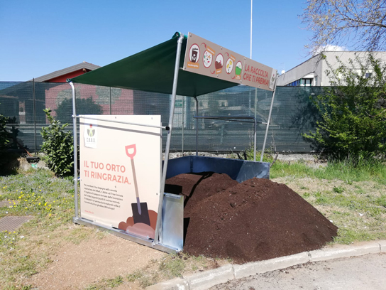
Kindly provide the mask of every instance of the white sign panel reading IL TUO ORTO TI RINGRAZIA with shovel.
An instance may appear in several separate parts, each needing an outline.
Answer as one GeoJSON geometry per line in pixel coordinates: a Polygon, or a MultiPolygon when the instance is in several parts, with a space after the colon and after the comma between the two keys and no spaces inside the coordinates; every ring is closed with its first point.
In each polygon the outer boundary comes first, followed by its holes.
{"type": "Polygon", "coordinates": [[[85,115],[80,119],[81,216],[154,238],[160,197],[160,116],[85,115]]]}

